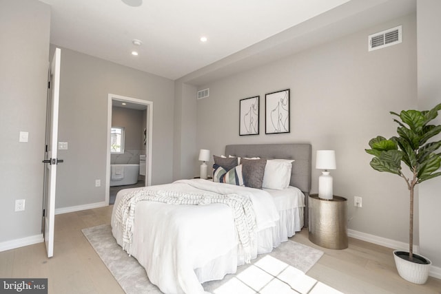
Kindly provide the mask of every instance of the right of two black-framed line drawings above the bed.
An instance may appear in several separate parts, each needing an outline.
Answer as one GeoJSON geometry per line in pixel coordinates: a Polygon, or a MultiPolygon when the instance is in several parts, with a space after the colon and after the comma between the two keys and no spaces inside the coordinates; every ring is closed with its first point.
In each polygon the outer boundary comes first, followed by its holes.
{"type": "Polygon", "coordinates": [[[289,89],[265,94],[265,134],[289,133],[289,89]]]}

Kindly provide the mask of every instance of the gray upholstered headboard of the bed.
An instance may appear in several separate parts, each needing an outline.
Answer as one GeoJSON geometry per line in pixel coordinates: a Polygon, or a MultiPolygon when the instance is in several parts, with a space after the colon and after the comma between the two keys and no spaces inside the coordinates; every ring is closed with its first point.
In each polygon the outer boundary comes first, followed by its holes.
{"type": "Polygon", "coordinates": [[[305,227],[308,224],[308,196],[311,191],[311,144],[251,144],[227,145],[225,156],[256,157],[265,159],[294,159],[289,185],[297,187],[305,194],[305,227]]]}

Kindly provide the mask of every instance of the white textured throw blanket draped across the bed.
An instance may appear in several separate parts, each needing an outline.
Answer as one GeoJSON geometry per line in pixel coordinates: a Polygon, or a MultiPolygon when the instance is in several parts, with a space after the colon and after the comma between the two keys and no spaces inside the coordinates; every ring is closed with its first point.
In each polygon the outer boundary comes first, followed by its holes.
{"type": "Polygon", "coordinates": [[[123,249],[131,254],[134,214],[136,203],[142,200],[163,202],[167,204],[204,205],[212,203],[227,204],[234,216],[234,224],[238,232],[240,243],[245,251],[245,262],[251,262],[252,238],[256,230],[256,216],[252,202],[245,196],[237,194],[210,195],[198,193],[183,193],[177,191],[163,191],[141,189],[127,193],[121,198],[116,208],[116,226],[123,229],[123,249]]]}

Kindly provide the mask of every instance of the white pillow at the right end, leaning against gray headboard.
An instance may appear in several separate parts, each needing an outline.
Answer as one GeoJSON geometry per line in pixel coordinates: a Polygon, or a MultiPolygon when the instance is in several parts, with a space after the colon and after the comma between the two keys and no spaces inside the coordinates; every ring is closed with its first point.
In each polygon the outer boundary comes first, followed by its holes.
{"type": "Polygon", "coordinates": [[[291,179],[292,162],[287,159],[269,159],[265,165],[262,187],[274,190],[283,190],[289,186],[291,179]]]}

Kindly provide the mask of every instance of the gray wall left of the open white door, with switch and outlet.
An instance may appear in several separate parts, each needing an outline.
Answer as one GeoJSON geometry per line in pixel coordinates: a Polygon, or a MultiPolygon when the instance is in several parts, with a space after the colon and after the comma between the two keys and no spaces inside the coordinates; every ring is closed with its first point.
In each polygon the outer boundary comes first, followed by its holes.
{"type": "Polygon", "coordinates": [[[41,233],[49,36],[50,6],[0,0],[0,242],[41,233]]]}

